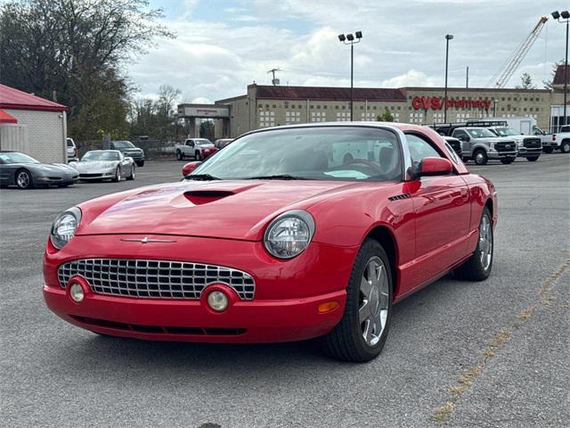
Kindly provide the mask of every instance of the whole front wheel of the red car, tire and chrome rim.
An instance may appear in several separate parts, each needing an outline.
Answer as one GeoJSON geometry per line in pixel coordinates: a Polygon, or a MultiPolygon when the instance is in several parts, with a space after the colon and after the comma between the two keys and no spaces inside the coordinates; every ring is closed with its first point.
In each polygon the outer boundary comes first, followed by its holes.
{"type": "Polygon", "coordinates": [[[324,349],[343,361],[369,361],[386,343],[392,311],[392,271],[386,251],[367,239],[346,287],[345,313],[323,337],[324,349]]]}

